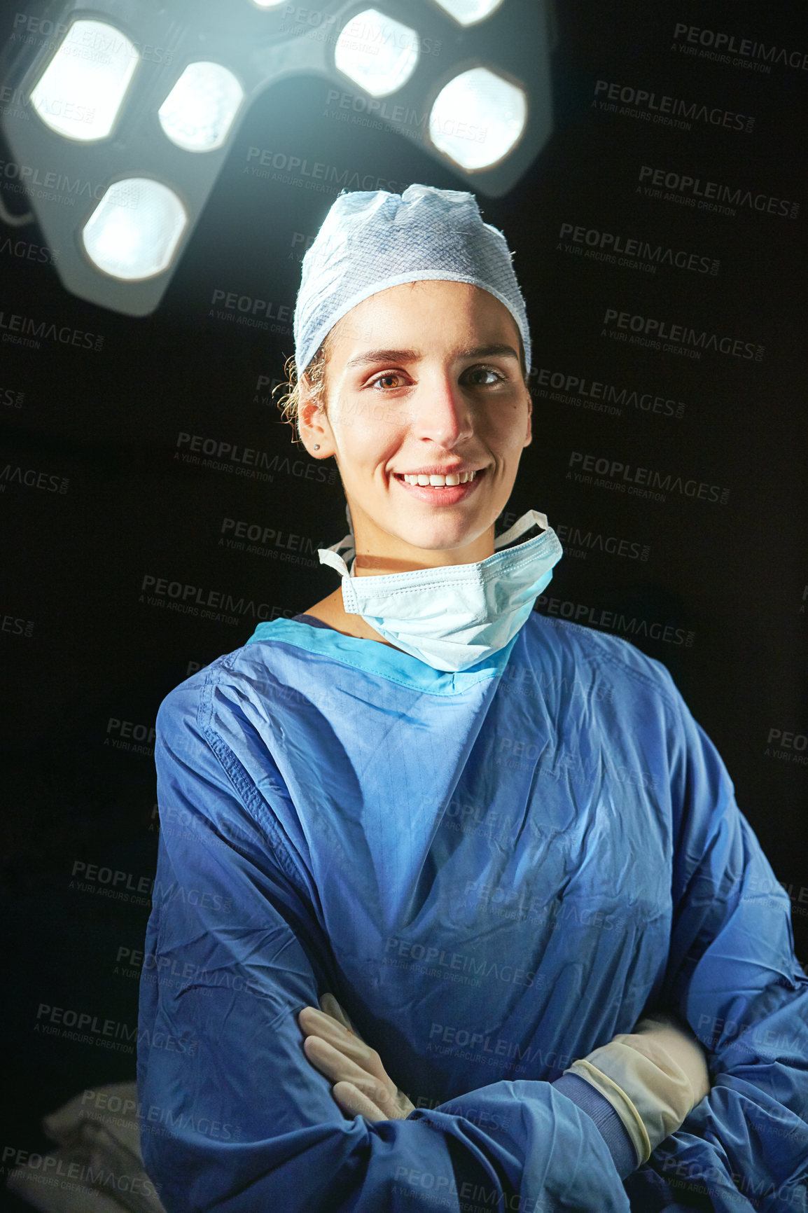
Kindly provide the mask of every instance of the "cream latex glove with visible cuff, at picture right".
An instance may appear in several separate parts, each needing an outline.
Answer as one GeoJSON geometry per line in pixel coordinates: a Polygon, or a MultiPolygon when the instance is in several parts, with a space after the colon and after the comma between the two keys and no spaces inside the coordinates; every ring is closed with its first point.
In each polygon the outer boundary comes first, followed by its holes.
{"type": "Polygon", "coordinates": [[[585,1078],[609,1100],[638,1163],[710,1093],[704,1048],[687,1024],[664,1013],[641,1019],[633,1032],[620,1032],[565,1074],[585,1078]]]}

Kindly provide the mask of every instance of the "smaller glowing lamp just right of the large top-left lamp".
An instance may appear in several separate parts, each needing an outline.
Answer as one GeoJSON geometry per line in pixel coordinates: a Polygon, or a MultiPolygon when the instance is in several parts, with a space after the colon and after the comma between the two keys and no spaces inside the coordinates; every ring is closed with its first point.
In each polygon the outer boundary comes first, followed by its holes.
{"type": "Polygon", "coordinates": [[[221,148],[244,101],[244,90],[221,63],[189,63],[165,98],[160,126],[186,152],[221,148]]]}

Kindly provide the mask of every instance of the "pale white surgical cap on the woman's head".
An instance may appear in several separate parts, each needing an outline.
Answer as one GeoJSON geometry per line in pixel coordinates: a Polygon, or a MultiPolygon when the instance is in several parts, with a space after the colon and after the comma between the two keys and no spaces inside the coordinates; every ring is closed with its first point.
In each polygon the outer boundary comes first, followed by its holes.
{"type": "Polygon", "coordinates": [[[295,306],[295,364],[306,370],[336,321],[377,291],[426,279],[471,283],[503,303],[530,366],[530,332],[511,250],[473,194],[434,186],[343,193],[303,257],[295,306]]]}

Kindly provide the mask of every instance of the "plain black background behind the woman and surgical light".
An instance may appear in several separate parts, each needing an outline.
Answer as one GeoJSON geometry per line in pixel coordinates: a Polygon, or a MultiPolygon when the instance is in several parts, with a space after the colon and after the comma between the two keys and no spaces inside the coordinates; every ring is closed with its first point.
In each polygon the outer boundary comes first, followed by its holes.
{"type": "MultiPolygon", "coordinates": [[[[1,40],[12,32],[12,10],[6,5],[0,17],[1,40]]],[[[781,64],[769,73],[742,70],[672,49],[677,22],[808,49],[802,10],[559,0],[558,18],[553,137],[507,197],[479,195],[483,215],[516,250],[536,369],[685,408],[678,418],[631,405],[609,416],[536,391],[534,443],[508,508],[535,507],[556,528],[649,547],[645,560],[597,547],[585,558],[568,554],[547,594],[693,633],[690,645],[633,639],[667,665],[717,744],[739,804],[789,888],[796,951],[806,962],[806,751],[793,742],[776,750],[768,739],[780,729],[802,745],[808,731],[808,73],[781,64]],[[746,133],[694,123],[684,131],[605,113],[593,107],[598,79],[753,115],[755,127],[746,133]],[[739,206],[730,216],[649,199],[637,193],[642,165],[797,201],[800,213],[739,206]],[[564,222],[719,258],[719,272],[660,266],[651,275],[576,257],[559,249],[564,222]],[[618,343],[601,331],[609,307],[740,337],[764,346],[764,357],[705,352],[692,359],[618,343]],[[655,502],[580,484],[567,478],[571,451],[695,478],[729,489],[729,500],[668,492],[655,502]]],[[[312,551],[343,534],[338,483],[294,474],[301,451],[266,383],[283,376],[291,336],[218,319],[211,298],[224,290],[294,304],[295,233],[317,232],[336,190],[250,177],[246,149],[280,148],[372,172],[399,189],[414,181],[466,188],[400,136],[336,120],[326,89],[319,78],[301,76],[252,106],[149,318],[85,303],[61,286],[51,266],[0,252],[0,311],[103,335],[97,353],[53,342],[40,349],[0,343],[0,389],[15,399],[23,393],[19,408],[0,405],[0,469],[69,479],[66,492],[0,482],[0,614],[33,621],[30,636],[0,631],[10,939],[4,1143],[17,1147],[44,1146],[39,1118],[78,1090],[133,1076],[133,1057],[34,1031],[40,1003],[136,1023],[137,979],[115,968],[121,949],[142,945],[148,909],[72,885],[76,862],[125,871],[130,887],[154,871],[153,759],[106,745],[118,736],[109,722],[153,725],[173,685],[243,644],[257,622],[245,614],[231,626],[149,606],[141,600],[143,577],[220,588],[288,615],[335,588],[334,574],[312,551]],[[261,483],[184,465],[173,457],[181,432],[289,455],[289,472],[261,483]],[[307,563],[221,546],[224,518],[302,543],[307,563]]],[[[19,197],[10,195],[8,205],[18,210],[19,197]]],[[[35,224],[0,224],[0,239],[5,234],[42,241],[35,224]]],[[[302,460],[298,471],[311,462],[305,452],[302,460]]]]}

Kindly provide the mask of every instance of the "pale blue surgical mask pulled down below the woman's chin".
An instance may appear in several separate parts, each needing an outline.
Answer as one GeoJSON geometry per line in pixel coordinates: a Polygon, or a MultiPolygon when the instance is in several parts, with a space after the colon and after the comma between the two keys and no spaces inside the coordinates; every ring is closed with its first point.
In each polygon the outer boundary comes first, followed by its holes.
{"type": "Polygon", "coordinates": [[[501,551],[477,564],[363,577],[353,575],[352,534],[318,548],[318,556],[342,575],[348,615],[360,615],[385,640],[434,670],[456,673],[513,639],[563,554],[558,536],[536,509],[523,514],[494,547],[501,551]],[[544,534],[516,543],[534,526],[544,534]]]}

